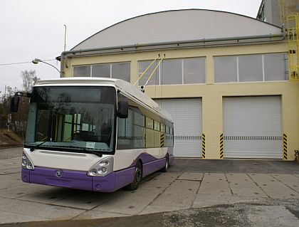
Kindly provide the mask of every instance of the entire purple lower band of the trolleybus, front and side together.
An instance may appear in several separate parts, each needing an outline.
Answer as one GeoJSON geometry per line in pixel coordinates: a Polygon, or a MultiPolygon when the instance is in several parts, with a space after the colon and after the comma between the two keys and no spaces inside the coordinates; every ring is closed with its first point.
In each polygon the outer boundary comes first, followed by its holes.
{"type": "MultiPolygon", "coordinates": [[[[169,164],[174,161],[173,149],[168,149],[169,164]]],[[[143,174],[147,176],[165,166],[166,159],[157,159],[150,154],[140,154],[132,165],[120,171],[112,172],[107,176],[88,176],[86,171],[72,171],[36,167],[34,170],[22,169],[22,181],[33,184],[62,186],[71,189],[88,191],[112,192],[131,184],[134,180],[135,165],[138,159],[142,160],[143,174]]]]}

